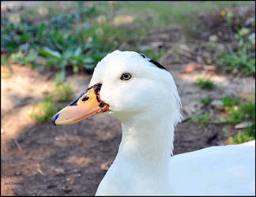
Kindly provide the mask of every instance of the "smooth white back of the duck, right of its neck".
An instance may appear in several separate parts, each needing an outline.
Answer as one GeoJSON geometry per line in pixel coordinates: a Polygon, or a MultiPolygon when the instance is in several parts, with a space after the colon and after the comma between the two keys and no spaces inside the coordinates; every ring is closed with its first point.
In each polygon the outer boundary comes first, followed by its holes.
{"type": "Polygon", "coordinates": [[[255,140],[171,158],[173,195],[255,195],[255,140]]]}

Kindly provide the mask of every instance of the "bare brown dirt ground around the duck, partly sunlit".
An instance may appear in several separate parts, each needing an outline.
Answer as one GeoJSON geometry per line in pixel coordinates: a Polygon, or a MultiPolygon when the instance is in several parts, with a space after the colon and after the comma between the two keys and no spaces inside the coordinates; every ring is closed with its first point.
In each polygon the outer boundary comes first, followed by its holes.
{"type": "MultiPolygon", "coordinates": [[[[175,43],[172,35],[179,29],[149,34],[149,45],[162,42],[169,48],[175,43]],[[151,36],[151,37],[150,37],[151,36]],[[172,38],[172,39],[171,39],[172,38]]],[[[180,35],[179,35],[180,36],[180,35]]],[[[153,46],[151,46],[153,47],[153,46]]],[[[220,99],[224,95],[247,98],[255,94],[253,77],[231,77],[209,72],[203,68],[191,73],[183,72],[188,63],[174,63],[171,54],[165,54],[162,63],[174,76],[183,101],[184,117],[203,108],[200,99],[211,95],[220,99]],[[172,63],[171,63],[172,62],[172,63]],[[202,91],[193,83],[198,76],[208,76],[217,85],[213,91],[202,91]]],[[[51,121],[40,125],[28,117],[33,102],[38,102],[51,91],[54,72],[33,70],[28,66],[12,66],[13,73],[2,67],[1,71],[1,195],[94,195],[100,180],[115,159],[121,140],[121,123],[107,114],[96,114],[74,125],[54,126],[51,121]]],[[[70,83],[76,87],[73,95],[79,95],[88,87],[91,76],[73,75],[70,83]]],[[[67,103],[63,103],[65,106],[67,103]]],[[[220,113],[204,128],[180,123],[175,132],[174,154],[195,151],[204,147],[224,145],[227,137],[217,125],[220,113]]]]}

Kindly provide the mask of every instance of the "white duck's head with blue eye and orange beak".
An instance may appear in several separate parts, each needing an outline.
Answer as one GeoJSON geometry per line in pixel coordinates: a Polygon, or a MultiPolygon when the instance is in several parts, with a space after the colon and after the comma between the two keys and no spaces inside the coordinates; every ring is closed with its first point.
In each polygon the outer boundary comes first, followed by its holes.
{"type": "Polygon", "coordinates": [[[88,89],[52,117],[55,125],[70,125],[96,113],[121,121],[171,116],[181,120],[180,99],[171,73],[134,51],[115,50],[94,69],[88,89]]]}

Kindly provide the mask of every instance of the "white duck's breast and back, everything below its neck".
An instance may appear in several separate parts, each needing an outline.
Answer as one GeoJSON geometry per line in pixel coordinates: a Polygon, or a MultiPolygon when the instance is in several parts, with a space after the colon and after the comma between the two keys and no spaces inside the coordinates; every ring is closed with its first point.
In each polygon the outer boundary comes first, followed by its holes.
{"type": "Polygon", "coordinates": [[[96,195],[255,195],[255,141],[172,157],[122,146],[96,195]]]}

